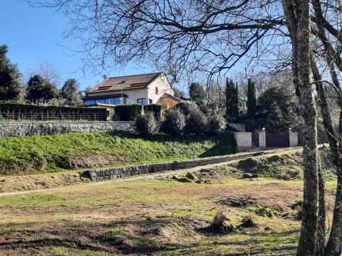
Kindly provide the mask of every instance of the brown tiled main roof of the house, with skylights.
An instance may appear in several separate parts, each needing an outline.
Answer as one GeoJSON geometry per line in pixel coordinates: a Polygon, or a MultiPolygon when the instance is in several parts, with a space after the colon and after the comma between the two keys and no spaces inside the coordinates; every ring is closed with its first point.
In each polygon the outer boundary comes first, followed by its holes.
{"type": "Polygon", "coordinates": [[[110,92],[117,90],[145,88],[150,84],[150,82],[155,80],[155,78],[157,78],[161,74],[162,73],[150,73],[107,78],[88,92],[110,92]]]}

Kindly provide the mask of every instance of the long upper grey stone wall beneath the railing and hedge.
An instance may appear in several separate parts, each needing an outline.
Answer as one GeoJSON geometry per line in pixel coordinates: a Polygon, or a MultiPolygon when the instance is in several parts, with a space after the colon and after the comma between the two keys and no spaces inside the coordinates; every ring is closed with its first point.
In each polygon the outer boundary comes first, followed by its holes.
{"type": "Polygon", "coordinates": [[[135,122],[11,122],[0,123],[0,138],[75,132],[132,131],[135,122]]]}

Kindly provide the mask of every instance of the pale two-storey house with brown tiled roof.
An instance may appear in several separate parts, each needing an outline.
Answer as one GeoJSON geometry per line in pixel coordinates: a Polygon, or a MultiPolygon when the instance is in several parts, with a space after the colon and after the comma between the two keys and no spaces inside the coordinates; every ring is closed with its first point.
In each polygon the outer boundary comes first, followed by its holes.
{"type": "Polygon", "coordinates": [[[83,100],[86,105],[157,104],[162,112],[180,102],[165,73],[107,78],[89,90],[83,100]]]}

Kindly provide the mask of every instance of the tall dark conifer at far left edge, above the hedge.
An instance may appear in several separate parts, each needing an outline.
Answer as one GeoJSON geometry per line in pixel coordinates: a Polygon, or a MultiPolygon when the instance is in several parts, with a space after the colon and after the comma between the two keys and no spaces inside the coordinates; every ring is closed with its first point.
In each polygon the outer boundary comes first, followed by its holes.
{"type": "Polygon", "coordinates": [[[21,73],[6,57],[7,46],[0,46],[0,100],[20,100],[21,73]]]}

